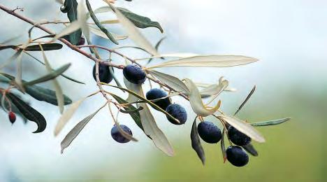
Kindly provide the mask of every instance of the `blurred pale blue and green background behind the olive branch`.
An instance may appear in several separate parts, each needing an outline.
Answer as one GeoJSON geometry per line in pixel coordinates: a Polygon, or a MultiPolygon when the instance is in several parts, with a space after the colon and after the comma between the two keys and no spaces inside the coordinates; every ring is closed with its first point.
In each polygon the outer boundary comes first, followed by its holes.
{"type": "MultiPolygon", "coordinates": [[[[23,15],[36,20],[66,20],[54,0],[10,1],[0,0],[10,8],[24,8],[23,15]]],[[[91,1],[92,7],[104,6],[101,0],[91,1]]],[[[243,181],[323,181],[326,169],[323,154],[324,128],[327,108],[327,2],[326,1],[226,1],[226,0],[179,0],[117,1],[117,6],[129,8],[134,13],[145,15],[160,22],[165,30],[142,30],[143,34],[156,43],[166,36],[159,51],[194,52],[211,55],[247,55],[260,62],[233,68],[166,68],[160,69],[179,78],[191,78],[201,83],[217,83],[220,76],[227,78],[235,93],[221,95],[223,110],[233,113],[256,85],[254,97],[240,113],[240,118],[250,122],[291,117],[289,123],[275,127],[259,128],[266,137],[266,144],[255,144],[259,157],[250,157],[247,167],[236,168],[223,164],[219,146],[204,144],[207,165],[192,151],[189,131],[194,114],[187,102],[180,98],[173,101],[182,104],[189,111],[185,125],[170,125],[166,117],[154,111],[158,125],[166,133],[175,148],[176,156],[168,158],[154,147],[152,141],[138,129],[131,118],[121,115],[119,121],[128,125],[138,143],[117,144],[110,137],[112,121],[108,111],[103,109],[85,127],[80,135],[60,154],[60,142],[66,133],[95,111],[102,104],[100,95],[87,99],[75,113],[73,119],[59,134],[53,137],[54,126],[59,118],[56,107],[36,102],[26,97],[48,121],[48,127],[41,134],[31,134],[34,123],[24,125],[17,121],[11,126],[7,116],[1,112],[0,122],[0,181],[53,181],[56,179],[133,179],[151,181],[154,179],[230,179],[243,181]],[[155,3],[154,3],[155,2],[155,3]]],[[[110,13],[100,15],[101,20],[112,18],[110,13]]],[[[27,40],[31,25],[0,11],[0,42],[22,34],[15,43],[27,40]]],[[[48,26],[59,32],[61,25],[48,26]]],[[[115,33],[124,34],[119,26],[108,26],[115,33]]],[[[35,29],[34,36],[44,33],[35,29]]],[[[94,43],[112,47],[114,45],[92,36],[94,43]]],[[[122,45],[133,45],[122,41],[122,45]]],[[[145,57],[142,52],[123,50],[130,57],[145,57]]],[[[10,57],[13,51],[1,51],[1,57],[10,57]]],[[[106,56],[102,52],[103,56],[106,56]]],[[[34,55],[41,57],[40,54],[34,55]]],[[[82,55],[63,50],[47,52],[53,66],[67,62],[72,66],[66,72],[87,85],[71,83],[64,78],[59,81],[64,92],[71,99],[94,92],[96,85],[92,78],[93,63],[82,55]]],[[[123,60],[114,59],[117,63],[123,60]]],[[[29,80],[45,73],[43,66],[24,57],[27,69],[24,78],[29,80]]],[[[158,60],[160,61],[160,60],[158,60]]],[[[15,71],[15,64],[3,70],[15,71]]],[[[122,80],[122,73],[117,71],[122,80]]],[[[50,84],[45,84],[51,87],[50,84]]],[[[145,86],[145,90],[147,90],[145,86]]],[[[119,93],[119,92],[117,92],[119,93]]]]}

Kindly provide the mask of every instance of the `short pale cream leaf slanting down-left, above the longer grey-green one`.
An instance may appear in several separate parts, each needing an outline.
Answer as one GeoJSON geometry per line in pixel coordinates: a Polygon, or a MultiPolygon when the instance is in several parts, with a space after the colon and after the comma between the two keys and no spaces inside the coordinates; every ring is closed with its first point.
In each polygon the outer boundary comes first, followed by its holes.
{"type": "Polygon", "coordinates": [[[54,136],[57,136],[59,134],[59,132],[61,132],[61,130],[68,123],[68,121],[71,119],[71,117],[73,116],[75,111],[77,111],[78,107],[80,106],[80,104],[82,104],[82,102],[85,99],[86,99],[86,97],[78,100],[77,102],[74,102],[64,113],[62,113],[62,115],[59,118],[57,125],[54,129],[54,136]]]}

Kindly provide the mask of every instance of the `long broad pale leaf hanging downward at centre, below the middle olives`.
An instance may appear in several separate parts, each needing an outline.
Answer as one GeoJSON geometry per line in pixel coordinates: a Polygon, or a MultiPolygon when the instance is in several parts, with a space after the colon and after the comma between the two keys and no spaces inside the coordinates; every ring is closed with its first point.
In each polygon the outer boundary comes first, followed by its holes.
{"type": "MultiPolygon", "coordinates": [[[[138,97],[139,99],[147,101],[147,104],[150,104],[151,106],[159,108],[156,104],[152,104],[152,102],[150,102],[144,98],[144,94],[143,94],[141,85],[138,85],[138,88],[136,88],[136,90],[133,90],[134,87],[129,87],[129,85],[126,85],[126,87],[128,87],[128,89],[124,89],[124,90],[126,92],[129,92],[129,94],[133,94],[134,96],[138,97]],[[138,92],[138,94],[136,94],[136,92],[138,92]]],[[[157,148],[159,148],[159,150],[163,151],[163,153],[166,153],[166,155],[168,155],[168,156],[173,156],[174,155],[173,146],[171,146],[171,144],[169,143],[165,134],[163,134],[163,132],[159,129],[147,104],[145,104],[145,103],[139,104],[139,106],[143,107],[143,110],[139,111],[140,120],[141,120],[143,129],[144,129],[143,131],[145,132],[145,134],[148,137],[150,137],[150,139],[152,139],[154,145],[157,146],[157,148]]]]}

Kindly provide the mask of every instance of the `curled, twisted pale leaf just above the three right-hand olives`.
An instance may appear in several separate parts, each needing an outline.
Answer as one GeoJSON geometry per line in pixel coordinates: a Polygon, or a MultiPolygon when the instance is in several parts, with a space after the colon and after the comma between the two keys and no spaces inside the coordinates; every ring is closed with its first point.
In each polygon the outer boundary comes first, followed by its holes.
{"type": "Polygon", "coordinates": [[[198,87],[193,83],[192,80],[186,78],[185,85],[189,88],[189,102],[191,104],[191,108],[193,109],[194,113],[198,116],[210,116],[215,113],[219,107],[221,102],[219,101],[215,107],[205,106],[201,99],[201,94],[198,91],[198,87]]]}

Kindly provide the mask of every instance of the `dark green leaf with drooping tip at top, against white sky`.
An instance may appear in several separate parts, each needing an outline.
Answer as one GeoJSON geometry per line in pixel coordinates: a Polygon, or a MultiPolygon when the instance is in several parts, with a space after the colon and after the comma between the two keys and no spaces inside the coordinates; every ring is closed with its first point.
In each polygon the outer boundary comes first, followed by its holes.
{"type": "Polygon", "coordinates": [[[161,28],[159,22],[154,22],[150,18],[137,15],[136,13],[132,13],[131,11],[126,10],[125,8],[117,8],[117,9],[119,9],[120,12],[122,12],[122,14],[125,15],[126,18],[131,20],[131,22],[133,22],[133,24],[136,27],[141,29],[145,29],[147,27],[155,27],[159,29],[161,33],[163,33],[163,29],[161,28]]]}

